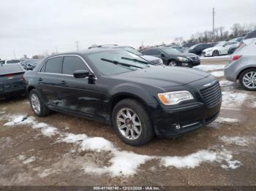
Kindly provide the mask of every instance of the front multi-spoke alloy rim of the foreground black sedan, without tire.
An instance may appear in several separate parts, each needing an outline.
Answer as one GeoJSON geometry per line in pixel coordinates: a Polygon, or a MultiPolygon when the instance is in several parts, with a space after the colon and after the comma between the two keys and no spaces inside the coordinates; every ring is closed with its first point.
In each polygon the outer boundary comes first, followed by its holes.
{"type": "Polygon", "coordinates": [[[136,140],[140,137],[142,125],[138,114],[132,109],[120,109],[116,116],[118,130],[122,136],[129,140],[136,140]]]}

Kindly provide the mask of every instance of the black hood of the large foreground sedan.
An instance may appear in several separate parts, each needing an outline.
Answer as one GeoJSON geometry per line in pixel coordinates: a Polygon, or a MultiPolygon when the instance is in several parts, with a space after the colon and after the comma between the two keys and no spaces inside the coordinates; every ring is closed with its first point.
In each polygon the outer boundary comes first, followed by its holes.
{"type": "Polygon", "coordinates": [[[154,66],[112,76],[129,82],[143,83],[156,87],[173,87],[208,77],[209,74],[197,69],[170,66],[154,66]]]}

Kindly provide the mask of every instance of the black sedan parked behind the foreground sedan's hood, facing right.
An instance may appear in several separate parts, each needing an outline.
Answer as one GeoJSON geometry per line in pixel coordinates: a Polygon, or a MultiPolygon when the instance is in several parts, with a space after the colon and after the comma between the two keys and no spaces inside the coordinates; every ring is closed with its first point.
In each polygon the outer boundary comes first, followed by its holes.
{"type": "Polygon", "coordinates": [[[153,47],[140,51],[144,55],[154,55],[161,58],[167,66],[185,66],[192,68],[200,65],[200,58],[192,53],[180,52],[172,47],[153,47]]]}

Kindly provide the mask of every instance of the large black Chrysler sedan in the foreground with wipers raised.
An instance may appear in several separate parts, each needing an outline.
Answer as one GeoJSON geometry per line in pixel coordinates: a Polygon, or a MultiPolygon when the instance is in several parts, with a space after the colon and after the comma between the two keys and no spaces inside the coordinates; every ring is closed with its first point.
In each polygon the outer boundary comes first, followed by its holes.
{"type": "Polygon", "coordinates": [[[52,55],[24,78],[37,116],[54,110],[106,122],[134,146],[201,128],[217,118],[222,102],[211,74],[154,66],[119,49],[52,55]]]}

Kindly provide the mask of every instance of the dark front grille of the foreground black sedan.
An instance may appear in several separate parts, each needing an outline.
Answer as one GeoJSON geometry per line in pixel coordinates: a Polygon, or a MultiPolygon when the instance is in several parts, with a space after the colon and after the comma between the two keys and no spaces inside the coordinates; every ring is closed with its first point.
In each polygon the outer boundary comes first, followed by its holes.
{"type": "Polygon", "coordinates": [[[203,101],[209,107],[215,106],[222,99],[222,89],[219,86],[219,82],[200,90],[200,93],[203,101]]]}

